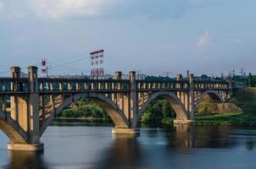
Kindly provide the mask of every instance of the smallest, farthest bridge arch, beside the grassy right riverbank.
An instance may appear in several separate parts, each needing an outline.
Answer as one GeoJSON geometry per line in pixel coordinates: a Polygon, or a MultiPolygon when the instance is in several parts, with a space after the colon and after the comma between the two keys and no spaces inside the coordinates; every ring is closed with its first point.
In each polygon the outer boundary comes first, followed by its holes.
{"type": "Polygon", "coordinates": [[[195,103],[195,106],[194,106],[194,112],[196,111],[196,109],[198,108],[199,106],[199,103],[200,101],[203,100],[203,97],[205,95],[209,95],[210,98],[214,101],[214,102],[224,102],[225,100],[223,99],[223,97],[221,97],[221,95],[215,91],[215,90],[208,90],[208,91],[204,91],[201,95],[199,95],[196,103],[195,103]]]}

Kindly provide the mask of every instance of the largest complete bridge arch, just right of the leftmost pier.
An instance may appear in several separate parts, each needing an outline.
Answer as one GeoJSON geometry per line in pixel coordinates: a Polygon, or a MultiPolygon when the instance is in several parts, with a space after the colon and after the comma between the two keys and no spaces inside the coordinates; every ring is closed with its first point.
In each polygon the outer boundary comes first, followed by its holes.
{"type": "MultiPolygon", "coordinates": [[[[103,94],[90,93],[90,94],[76,94],[71,95],[62,101],[62,103],[55,108],[55,114],[58,115],[65,107],[69,106],[71,103],[78,101],[82,96],[95,101],[98,106],[101,106],[105,112],[109,114],[109,117],[112,119],[115,128],[128,128],[128,120],[125,117],[125,114],[120,110],[120,108],[103,94]]],[[[42,135],[49,123],[53,121],[54,113],[52,112],[49,117],[42,123],[40,134],[42,135]]]]}

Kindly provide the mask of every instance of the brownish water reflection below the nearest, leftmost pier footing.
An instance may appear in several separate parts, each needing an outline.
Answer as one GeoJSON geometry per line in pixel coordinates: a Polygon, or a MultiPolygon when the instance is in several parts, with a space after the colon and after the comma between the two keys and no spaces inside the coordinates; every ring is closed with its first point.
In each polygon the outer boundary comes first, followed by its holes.
{"type": "Polygon", "coordinates": [[[42,153],[25,152],[25,151],[8,151],[9,163],[6,168],[9,169],[31,169],[42,168],[47,169],[47,166],[42,158],[42,153]]]}

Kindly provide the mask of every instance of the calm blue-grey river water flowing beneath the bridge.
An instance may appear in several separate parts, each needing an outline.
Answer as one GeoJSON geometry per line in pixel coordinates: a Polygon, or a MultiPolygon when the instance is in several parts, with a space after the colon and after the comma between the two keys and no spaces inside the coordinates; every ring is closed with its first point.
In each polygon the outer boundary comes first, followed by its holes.
{"type": "Polygon", "coordinates": [[[256,129],[142,126],[115,137],[111,126],[54,123],[42,154],[9,152],[0,134],[1,168],[256,168],[256,129]]]}

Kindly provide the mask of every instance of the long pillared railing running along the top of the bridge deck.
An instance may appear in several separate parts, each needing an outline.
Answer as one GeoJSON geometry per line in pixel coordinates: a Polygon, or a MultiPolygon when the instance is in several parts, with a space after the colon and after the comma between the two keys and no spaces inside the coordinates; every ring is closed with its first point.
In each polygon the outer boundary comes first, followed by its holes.
{"type": "MultiPolygon", "coordinates": [[[[136,80],[136,90],[189,90],[188,80],[136,80]]],[[[231,83],[216,80],[195,80],[192,84],[194,90],[229,89],[231,83]]],[[[128,91],[131,82],[127,79],[37,79],[39,92],[53,91],[128,91]]],[[[0,78],[0,93],[30,92],[27,78],[0,78]],[[12,87],[15,85],[16,87],[12,87]]]]}

